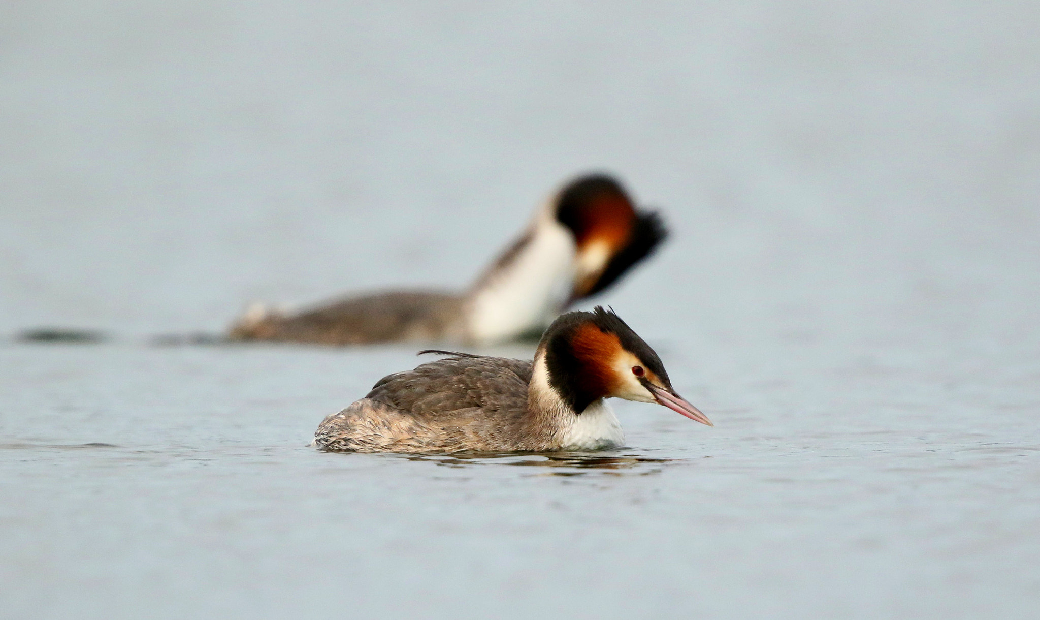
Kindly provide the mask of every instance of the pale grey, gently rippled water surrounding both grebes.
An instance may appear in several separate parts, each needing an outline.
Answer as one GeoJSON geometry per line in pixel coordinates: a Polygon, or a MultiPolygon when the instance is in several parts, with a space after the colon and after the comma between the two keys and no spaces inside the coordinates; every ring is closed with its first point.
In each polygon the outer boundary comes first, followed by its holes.
{"type": "Polygon", "coordinates": [[[1036,617],[1040,11],[687,4],[0,6],[0,616],[1036,617]],[[713,429],[323,454],[418,347],[190,336],[464,286],[590,169],[713,429]]]}

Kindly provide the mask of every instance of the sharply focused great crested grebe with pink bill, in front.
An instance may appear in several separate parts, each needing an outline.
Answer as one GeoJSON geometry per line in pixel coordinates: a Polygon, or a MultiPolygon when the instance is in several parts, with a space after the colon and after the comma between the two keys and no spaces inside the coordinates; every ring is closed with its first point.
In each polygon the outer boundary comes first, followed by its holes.
{"type": "Polygon", "coordinates": [[[624,443],[604,398],[658,403],[713,425],[675,393],[660,358],[613,310],[569,312],[532,362],[452,357],[384,377],[330,415],[314,445],[354,453],[595,450],[624,443]]]}

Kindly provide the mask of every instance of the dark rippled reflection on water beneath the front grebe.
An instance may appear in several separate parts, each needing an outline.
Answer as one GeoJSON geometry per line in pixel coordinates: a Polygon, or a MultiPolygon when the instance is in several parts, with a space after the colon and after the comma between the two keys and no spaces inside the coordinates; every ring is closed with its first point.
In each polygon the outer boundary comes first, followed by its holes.
{"type": "Polygon", "coordinates": [[[495,455],[417,455],[406,457],[410,461],[427,461],[444,467],[471,467],[474,465],[518,465],[521,467],[547,467],[540,475],[582,475],[606,473],[613,475],[649,475],[660,473],[662,465],[684,459],[649,459],[635,454],[604,453],[508,453],[495,455]]]}

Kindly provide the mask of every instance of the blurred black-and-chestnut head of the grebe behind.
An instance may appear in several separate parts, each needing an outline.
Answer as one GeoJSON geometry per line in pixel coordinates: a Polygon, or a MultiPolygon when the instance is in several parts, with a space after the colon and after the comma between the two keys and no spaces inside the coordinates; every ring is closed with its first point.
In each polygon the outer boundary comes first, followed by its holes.
{"type": "Polygon", "coordinates": [[[574,280],[568,304],[603,290],[649,256],[668,230],[656,212],[639,212],[606,175],[578,177],[560,190],[556,221],[574,235],[574,280]]]}

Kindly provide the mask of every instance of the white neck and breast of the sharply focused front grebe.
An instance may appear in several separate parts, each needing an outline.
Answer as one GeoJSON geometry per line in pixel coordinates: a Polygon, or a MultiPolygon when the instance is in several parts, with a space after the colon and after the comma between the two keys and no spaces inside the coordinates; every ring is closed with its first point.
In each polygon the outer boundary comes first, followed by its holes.
{"type": "Polygon", "coordinates": [[[541,351],[535,355],[529,390],[528,407],[538,407],[557,420],[553,439],[560,449],[601,450],[625,444],[621,422],[604,398],[578,414],[560,397],[549,385],[549,369],[541,351]]]}

